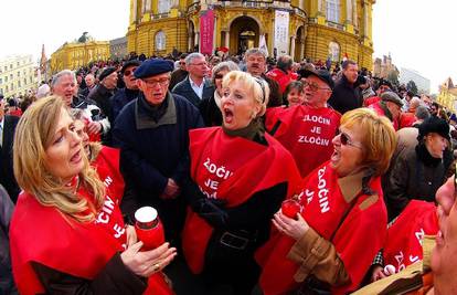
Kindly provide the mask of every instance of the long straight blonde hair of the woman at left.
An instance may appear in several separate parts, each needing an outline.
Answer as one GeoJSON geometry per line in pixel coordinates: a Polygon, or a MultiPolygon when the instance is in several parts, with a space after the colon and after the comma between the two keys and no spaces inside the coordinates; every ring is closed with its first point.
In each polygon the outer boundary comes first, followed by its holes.
{"type": "MultiPolygon", "coordinates": [[[[93,196],[89,206],[85,198],[77,196],[74,188],[51,175],[46,168],[46,149],[52,145],[61,112],[67,112],[59,96],[49,96],[31,105],[19,120],[13,145],[14,177],[19,186],[33,194],[45,207],[54,207],[64,215],[79,222],[95,220],[105,199],[105,186],[97,172],[83,156],[84,168],[79,183],[93,196]],[[88,210],[95,207],[94,210],[88,210]]],[[[83,152],[84,154],[84,152],[83,152]]]]}

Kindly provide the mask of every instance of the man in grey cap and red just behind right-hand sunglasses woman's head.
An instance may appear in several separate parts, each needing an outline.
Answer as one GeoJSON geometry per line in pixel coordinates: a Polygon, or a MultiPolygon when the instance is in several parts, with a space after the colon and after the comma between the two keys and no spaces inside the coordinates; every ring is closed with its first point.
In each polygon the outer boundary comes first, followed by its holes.
{"type": "Polygon", "coordinates": [[[402,115],[403,102],[394,92],[384,92],[381,94],[381,101],[369,105],[369,108],[376,112],[378,115],[387,117],[395,130],[400,129],[400,118],[402,115]]]}

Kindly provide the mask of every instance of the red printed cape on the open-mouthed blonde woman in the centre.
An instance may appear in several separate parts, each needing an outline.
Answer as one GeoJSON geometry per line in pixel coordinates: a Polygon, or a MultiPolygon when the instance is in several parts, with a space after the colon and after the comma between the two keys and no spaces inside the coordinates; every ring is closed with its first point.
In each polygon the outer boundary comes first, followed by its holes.
{"type": "MultiPolygon", "coordinates": [[[[288,181],[288,194],[299,179],[297,167],[287,150],[265,134],[268,146],[242,137],[227,136],[221,127],[190,131],[191,177],[208,196],[236,207],[255,192],[288,181]]],[[[266,200],[267,201],[267,200],[266,200]]],[[[189,210],[182,247],[189,267],[200,273],[213,228],[189,210]]]]}

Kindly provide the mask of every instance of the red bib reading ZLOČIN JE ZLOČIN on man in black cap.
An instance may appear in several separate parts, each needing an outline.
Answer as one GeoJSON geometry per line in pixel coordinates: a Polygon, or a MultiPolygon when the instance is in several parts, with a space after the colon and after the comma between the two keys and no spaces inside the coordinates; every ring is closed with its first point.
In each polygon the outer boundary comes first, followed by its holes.
{"type": "Polygon", "coordinates": [[[270,130],[280,120],[274,137],[290,151],[301,177],[306,177],[333,154],[331,141],[340,127],[340,113],[331,108],[299,105],[276,112],[273,116],[267,114],[265,125],[270,130]]]}

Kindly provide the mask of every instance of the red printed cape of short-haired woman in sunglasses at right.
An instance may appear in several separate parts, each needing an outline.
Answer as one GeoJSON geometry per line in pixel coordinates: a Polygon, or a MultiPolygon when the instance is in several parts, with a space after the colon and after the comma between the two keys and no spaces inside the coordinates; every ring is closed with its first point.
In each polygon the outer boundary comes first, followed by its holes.
{"type": "MultiPolygon", "coordinates": [[[[369,183],[371,190],[378,193],[375,197],[360,191],[350,203],[341,193],[340,180],[327,162],[304,180],[300,200],[304,206],[301,215],[310,228],[334,245],[350,276],[350,283],[332,287],[332,294],[347,294],[359,287],[374,255],[383,245],[387,219],[380,178],[372,179],[369,183]],[[369,198],[374,198],[375,201],[363,208],[361,204],[369,198]],[[370,243],[366,243],[368,238],[370,243]]],[[[263,265],[259,285],[265,295],[287,294],[298,287],[294,275],[299,265],[287,259],[295,242],[275,231],[267,244],[258,251],[257,259],[263,265]]]]}

